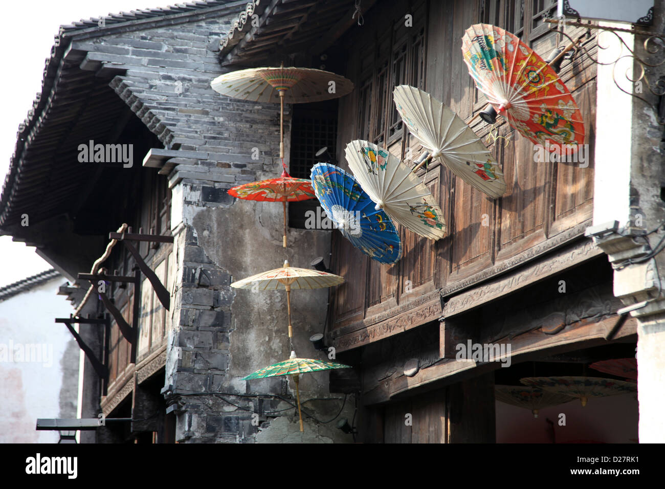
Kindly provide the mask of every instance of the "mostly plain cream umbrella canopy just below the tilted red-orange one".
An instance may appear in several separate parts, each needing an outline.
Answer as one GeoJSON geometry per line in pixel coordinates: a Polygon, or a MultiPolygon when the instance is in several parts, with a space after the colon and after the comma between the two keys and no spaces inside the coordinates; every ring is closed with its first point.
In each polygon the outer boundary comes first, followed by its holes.
{"type": "Polygon", "coordinates": [[[456,176],[490,197],[499,198],[505,193],[501,167],[455,112],[414,86],[396,86],[393,98],[411,134],[432,158],[438,158],[456,176]]]}

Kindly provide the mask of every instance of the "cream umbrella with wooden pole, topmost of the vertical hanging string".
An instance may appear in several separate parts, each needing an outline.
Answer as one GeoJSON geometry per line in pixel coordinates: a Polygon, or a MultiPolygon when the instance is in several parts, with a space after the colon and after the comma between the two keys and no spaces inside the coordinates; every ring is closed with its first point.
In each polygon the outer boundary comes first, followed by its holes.
{"type": "Polygon", "coordinates": [[[215,78],[210,85],[215,92],[241,100],[279,102],[280,158],[284,158],[284,102],[320,102],[353,90],[351,81],[329,71],[283,66],[231,71],[215,78]]]}

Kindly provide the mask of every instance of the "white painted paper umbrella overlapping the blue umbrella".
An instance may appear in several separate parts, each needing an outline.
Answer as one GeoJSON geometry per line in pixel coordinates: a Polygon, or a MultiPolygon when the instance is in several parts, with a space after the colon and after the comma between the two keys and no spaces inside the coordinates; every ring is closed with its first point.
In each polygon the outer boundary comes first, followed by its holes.
{"type": "Polygon", "coordinates": [[[446,235],[443,212],[432,192],[396,156],[369,141],[355,140],[346,145],[346,161],[376,210],[430,240],[446,235]]]}

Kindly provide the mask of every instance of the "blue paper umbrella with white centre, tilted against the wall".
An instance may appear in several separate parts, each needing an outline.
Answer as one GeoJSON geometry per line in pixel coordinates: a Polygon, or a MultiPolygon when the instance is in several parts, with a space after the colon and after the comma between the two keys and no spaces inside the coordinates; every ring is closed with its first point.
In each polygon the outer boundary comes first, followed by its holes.
{"type": "Polygon", "coordinates": [[[312,186],[326,214],[352,245],[380,263],[395,263],[402,257],[395,226],[385,212],[374,208],[352,175],[318,163],[312,167],[312,186]]]}

